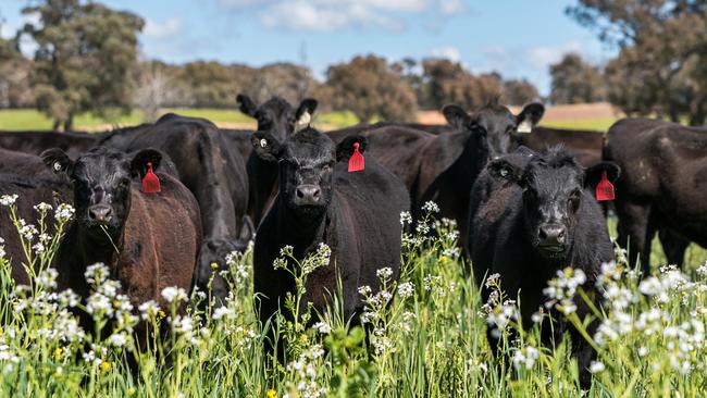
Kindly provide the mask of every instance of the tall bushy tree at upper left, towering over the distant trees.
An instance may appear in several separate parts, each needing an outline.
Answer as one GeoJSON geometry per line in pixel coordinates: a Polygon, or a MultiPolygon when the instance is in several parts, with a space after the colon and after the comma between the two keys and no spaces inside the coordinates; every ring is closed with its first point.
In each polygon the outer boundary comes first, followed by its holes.
{"type": "Polygon", "coordinates": [[[37,42],[33,83],[37,108],[72,128],[82,112],[107,115],[110,109],[129,112],[135,88],[137,34],[142,20],[100,3],[46,0],[23,9],[39,15],[24,34],[37,42]]]}

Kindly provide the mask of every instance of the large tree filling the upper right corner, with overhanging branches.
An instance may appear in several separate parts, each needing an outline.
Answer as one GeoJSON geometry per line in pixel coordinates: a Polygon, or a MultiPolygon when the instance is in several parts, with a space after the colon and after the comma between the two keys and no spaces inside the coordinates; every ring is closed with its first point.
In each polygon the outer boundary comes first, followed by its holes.
{"type": "Polygon", "coordinates": [[[628,114],[707,119],[707,2],[580,0],[568,14],[619,49],[608,98],[628,114]]]}

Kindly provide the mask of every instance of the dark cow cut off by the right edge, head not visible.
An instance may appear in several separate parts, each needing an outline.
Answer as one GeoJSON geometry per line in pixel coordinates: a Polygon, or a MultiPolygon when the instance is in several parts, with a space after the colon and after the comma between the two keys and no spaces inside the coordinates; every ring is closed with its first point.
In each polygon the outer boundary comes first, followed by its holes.
{"type": "Polygon", "coordinates": [[[707,247],[707,128],[624,119],[608,133],[605,159],[623,171],[616,185],[619,244],[631,264],[650,272],[656,231],[671,264],[682,265],[690,240],[707,247]]]}

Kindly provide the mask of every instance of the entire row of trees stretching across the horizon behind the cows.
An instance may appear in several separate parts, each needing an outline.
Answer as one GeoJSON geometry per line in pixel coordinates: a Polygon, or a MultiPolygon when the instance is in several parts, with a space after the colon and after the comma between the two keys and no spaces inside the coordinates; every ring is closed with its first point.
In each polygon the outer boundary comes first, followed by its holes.
{"type": "MultiPolygon", "coordinates": [[[[474,109],[501,95],[504,102],[539,99],[524,79],[470,72],[446,59],[389,61],[359,55],[331,65],[322,80],[294,63],[262,67],[195,61],[169,64],[140,60],[144,20],[97,2],[44,0],[23,10],[36,14],[14,39],[0,39],[0,108],[35,107],[71,129],[74,115],[109,115],[159,108],[234,108],[235,95],[258,101],[277,95],[297,102],[310,96],[325,110],[351,111],[360,120],[413,120],[419,109],[457,103],[474,109]],[[18,43],[37,43],[27,59],[18,43]]],[[[545,100],[581,103],[608,100],[630,115],[690,124],[707,117],[707,7],[700,0],[580,0],[567,9],[618,55],[594,65],[566,54],[549,66],[545,100]]]]}

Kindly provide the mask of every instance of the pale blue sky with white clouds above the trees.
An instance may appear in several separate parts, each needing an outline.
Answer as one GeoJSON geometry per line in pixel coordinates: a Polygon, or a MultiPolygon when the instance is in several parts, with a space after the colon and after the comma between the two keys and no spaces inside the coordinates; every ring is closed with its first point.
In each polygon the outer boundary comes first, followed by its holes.
{"type": "MultiPolygon", "coordinates": [[[[574,51],[604,63],[613,51],[565,15],[571,0],[102,0],[141,15],[141,51],[168,62],[332,63],[448,57],[549,90],[548,65],[574,51]]],[[[21,26],[22,0],[3,0],[1,34],[21,26]]]]}

